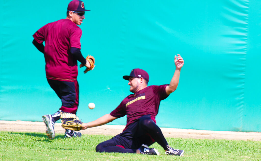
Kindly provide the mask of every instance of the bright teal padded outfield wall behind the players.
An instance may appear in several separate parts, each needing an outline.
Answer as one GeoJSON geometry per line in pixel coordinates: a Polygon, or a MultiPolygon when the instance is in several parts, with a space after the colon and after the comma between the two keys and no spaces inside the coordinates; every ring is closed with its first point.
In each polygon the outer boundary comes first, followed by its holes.
{"type": "MultiPolygon", "coordinates": [[[[60,108],[32,35],[65,18],[69,2],[1,0],[0,120],[41,121],[60,108]]],[[[81,51],[96,58],[93,71],[78,69],[77,115],[84,122],[110,113],[131,93],[122,76],[134,68],[149,73],[149,85],[168,84],[181,54],[180,83],[161,102],[160,127],[261,132],[261,1],[84,3],[91,11],[80,25],[81,51]]],[[[125,125],[126,117],[110,124],[125,125]]]]}

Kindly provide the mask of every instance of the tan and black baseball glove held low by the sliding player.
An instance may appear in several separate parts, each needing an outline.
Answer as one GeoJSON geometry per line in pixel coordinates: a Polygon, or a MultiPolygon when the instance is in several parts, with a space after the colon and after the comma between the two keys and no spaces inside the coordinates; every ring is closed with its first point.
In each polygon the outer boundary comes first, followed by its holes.
{"type": "Polygon", "coordinates": [[[74,131],[81,130],[82,122],[75,114],[68,113],[68,112],[61,112],[60,118],[62,122],[62,127],[64,129],[69,129],[74,131]]]}

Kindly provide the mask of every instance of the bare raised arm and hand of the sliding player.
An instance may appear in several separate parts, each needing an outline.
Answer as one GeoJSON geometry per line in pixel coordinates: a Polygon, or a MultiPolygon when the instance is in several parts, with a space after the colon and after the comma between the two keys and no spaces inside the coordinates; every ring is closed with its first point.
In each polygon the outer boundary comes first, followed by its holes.
{"type": "Polygon", "coordinates": [[[176,70],[174,72],[174,75],[173,75],[169,85],[166,86],[166,89],[165,89],[166,93],[168,95],[177,89],[177,86],[179,84],[179,78],[180,78],[180,70],[181,70],[182,66],[184,65],[184,60],[179,54],[178,54],[178,56],[175,55],[174,62],[176,65],[176,70]]]}

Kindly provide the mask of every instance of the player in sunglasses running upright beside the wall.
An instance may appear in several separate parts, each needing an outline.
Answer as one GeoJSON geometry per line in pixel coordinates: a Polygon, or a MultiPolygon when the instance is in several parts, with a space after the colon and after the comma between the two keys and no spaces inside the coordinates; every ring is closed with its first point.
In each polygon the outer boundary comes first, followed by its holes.
{"type": "MultiPolygon", "coordinates": [[[[75,114],[79,105],[78,66],[86,66],[85,73],[94,68],[94,58],[86,59],[81,54],[81,25],[86,10],[84,3],[73,0],[68,4],[67,17],[48,23],[34,33],[33,44],[45,58],[46,78],[62,101],[61,108],[53,115],[44,115],[46,133],[50,139],[55,138],[54,124],[60,119],[60,112],[75,114]],[[45,42],[45,46],[43,45],[45,42]]],[[[66,129],[64,137],[81,137],[80,132],[66,129]]]]}

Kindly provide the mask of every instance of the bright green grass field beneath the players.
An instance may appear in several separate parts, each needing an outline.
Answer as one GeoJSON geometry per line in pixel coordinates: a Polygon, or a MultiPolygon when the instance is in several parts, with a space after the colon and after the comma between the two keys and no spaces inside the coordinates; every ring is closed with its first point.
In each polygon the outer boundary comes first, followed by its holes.
{"type": "Polygon", "coordinates": [[[45,133],[0,131],[0,160],[261,160],[261,142],[167,138],[169,145],[185,150],[184,157],[167,156],[155,143],[160,156],[97,153],[95,147],[112,136],[83,135],[81,138],[54,140],[45,133]]]}

